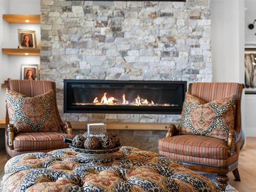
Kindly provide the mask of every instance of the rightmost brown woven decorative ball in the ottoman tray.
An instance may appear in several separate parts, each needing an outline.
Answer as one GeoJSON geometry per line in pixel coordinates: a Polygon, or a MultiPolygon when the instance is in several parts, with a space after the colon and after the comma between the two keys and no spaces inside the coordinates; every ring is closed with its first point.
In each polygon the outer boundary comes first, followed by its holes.
{"type": "Polygon", "coordinates": [[[104,137],[101,138],[100,144],[105,150],[115,148],[115,146],[120,145],[120,139],[117,134],[107,133],[104,137]]]}

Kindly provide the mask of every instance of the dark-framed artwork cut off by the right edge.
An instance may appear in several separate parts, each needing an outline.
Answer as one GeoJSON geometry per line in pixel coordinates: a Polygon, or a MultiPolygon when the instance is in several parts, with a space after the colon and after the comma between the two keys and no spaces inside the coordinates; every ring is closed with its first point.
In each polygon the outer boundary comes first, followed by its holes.
{"type": "Polygon", "coordinates": [[[256,48],[245,48],[245,94],[256,94],[256,48]]]}

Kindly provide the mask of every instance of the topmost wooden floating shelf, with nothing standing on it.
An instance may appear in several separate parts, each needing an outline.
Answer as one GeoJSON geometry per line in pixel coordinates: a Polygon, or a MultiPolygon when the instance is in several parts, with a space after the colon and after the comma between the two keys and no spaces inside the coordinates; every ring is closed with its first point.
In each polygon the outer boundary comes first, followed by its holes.
{"type": "Polygon", "coordinates": [[[10,24],[40,24],[40,15],[3,14],[3,19],[10,24]]]}

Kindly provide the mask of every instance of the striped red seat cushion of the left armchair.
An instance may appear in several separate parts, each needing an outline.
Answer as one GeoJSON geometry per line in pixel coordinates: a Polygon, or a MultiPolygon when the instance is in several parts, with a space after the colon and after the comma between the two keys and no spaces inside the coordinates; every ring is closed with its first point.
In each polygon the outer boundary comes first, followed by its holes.
{"type": "Polygon", "coordinates": [[[56,132],[20,133],[14,138],[15,151],[53,150],[66,148],[68,144],[63,138],[72,138],[68,134],[56,132]]]}

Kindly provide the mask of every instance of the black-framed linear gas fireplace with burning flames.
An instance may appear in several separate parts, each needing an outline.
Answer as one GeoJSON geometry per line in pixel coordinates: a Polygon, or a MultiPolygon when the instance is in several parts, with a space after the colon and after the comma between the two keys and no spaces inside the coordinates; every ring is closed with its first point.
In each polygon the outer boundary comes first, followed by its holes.
{"type": "Polygon", "coordinates": [[[65,113],[180,114],[186,81],[64,80],[65,113]]]}

